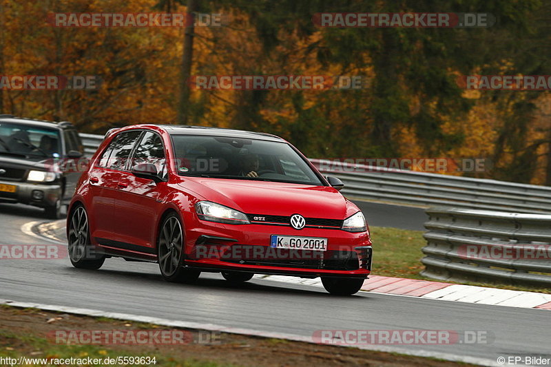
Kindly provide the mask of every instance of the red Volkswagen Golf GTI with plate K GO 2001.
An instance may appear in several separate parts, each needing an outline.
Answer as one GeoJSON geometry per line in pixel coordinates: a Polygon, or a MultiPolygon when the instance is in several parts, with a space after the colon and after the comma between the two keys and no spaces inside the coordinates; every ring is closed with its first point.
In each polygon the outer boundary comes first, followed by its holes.
{"type": "Polygon", "coordinates": [[[298,149],[270,134],[176,125],[112,130],[69,207],[70,260],[158,262],[169,282],[218,272],[321,277],[360,290],[371,240],[360,211],[298,149]]]}

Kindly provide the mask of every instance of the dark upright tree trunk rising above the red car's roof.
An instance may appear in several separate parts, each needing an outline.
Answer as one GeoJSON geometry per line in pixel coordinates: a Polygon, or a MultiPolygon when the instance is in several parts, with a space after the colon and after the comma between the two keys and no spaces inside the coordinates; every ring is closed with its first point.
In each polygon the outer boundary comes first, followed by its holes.
{"type": "Polygon", "coordinates": [[[182,54],[182,69],[180,72],[180,101],[178,103],[178,123],[186,125],[189,120],[189,85],[187,83],[191,75],[191,62],[194,52],[194,20],[196,11],[196,0],[187,0],[187,19],[191,24],[185,28],[184,48],[182,54]],[[190,17],[191,16],[191,17],[190,17]]]}

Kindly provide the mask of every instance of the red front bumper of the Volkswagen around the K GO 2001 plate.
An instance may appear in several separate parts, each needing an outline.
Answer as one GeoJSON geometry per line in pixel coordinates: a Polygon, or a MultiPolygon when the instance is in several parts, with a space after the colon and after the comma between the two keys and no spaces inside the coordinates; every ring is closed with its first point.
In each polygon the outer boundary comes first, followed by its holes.
{"type": "Polygon", "coordinates": [[[367,232],[221,224],[199,220],[193,213],[186,222],[195,225],[187,227],[185,265],[202,271],[359,278],[371,272],[373,250],[367,232]],[[327,251],[274,249],[271,235],[327,238],[327,251]]]}

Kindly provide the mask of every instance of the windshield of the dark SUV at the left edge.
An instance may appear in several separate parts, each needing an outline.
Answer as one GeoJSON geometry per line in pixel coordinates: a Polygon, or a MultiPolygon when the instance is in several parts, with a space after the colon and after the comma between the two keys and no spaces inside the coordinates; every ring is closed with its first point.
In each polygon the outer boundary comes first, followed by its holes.
{"type": "Polygon", "coordinates": [[[59,157],[59,143],[59,132],[56,129],[0,123],[0,154],[59,157]]]}

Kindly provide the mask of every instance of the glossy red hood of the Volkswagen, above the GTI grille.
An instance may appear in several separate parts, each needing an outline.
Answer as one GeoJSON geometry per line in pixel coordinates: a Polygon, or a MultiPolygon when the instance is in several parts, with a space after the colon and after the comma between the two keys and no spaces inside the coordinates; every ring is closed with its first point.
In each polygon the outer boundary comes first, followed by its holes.
{"type": "Polygon", "coordinates": [[[351,203],[333,187],[217,178],[187,178],[179,185],[248,214],[344,219],[351,211],[351,203]]]}

